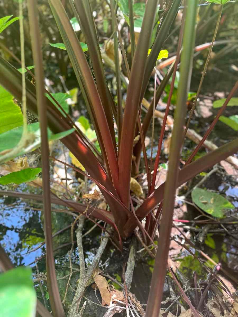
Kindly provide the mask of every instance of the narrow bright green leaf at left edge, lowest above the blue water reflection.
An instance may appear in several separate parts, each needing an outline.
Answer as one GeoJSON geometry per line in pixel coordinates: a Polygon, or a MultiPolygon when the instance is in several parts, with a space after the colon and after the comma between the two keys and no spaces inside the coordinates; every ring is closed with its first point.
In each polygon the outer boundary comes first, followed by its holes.
{"type": "Polygon", "coordinates": [[[8,184],[22,184],[26,182],[31,182],[38,177],[41,172],[41,168],[25,168],[24,170],[18,172],[12,172],[0,178],[1,185],[8,184]]]}

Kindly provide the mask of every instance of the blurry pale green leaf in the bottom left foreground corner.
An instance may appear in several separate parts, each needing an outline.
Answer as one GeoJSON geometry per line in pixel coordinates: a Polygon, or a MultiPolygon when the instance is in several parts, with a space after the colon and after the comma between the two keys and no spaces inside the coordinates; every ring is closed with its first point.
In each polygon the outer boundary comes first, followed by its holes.
{"type": "Polygon", "coordinates": [[[36,315],[36,292],[29,267],[13,268],[0,275],[0,307],[4,317],[36,315]]]}

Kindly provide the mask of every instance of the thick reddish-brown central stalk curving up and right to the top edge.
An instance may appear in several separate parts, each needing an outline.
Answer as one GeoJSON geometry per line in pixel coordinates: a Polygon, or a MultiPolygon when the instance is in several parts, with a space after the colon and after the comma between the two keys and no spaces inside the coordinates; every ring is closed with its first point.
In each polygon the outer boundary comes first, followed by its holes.
{"type": "Polygon", "coordinates": [[[130,81],[122,122],[122,134],[118,155],[120,198],[127,207],[130,204],[130,177],[133,141],[135,137],[140,94],[145,74],[145,60],[148,56],[150,36],[155,20],[157,0],[146,4],[145,14],[136,51],[132,61],[130,81]]]}

